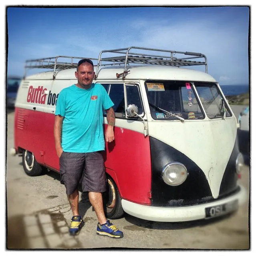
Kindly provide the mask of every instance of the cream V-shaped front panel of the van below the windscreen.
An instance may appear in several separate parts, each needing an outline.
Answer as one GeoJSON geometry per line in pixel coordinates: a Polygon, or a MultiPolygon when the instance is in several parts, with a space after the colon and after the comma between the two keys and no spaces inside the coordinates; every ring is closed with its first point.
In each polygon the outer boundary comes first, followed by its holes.
{"type": "Polygon", "coordinates": [[[236,119],[151,121],[148,128],[149,136],[174,147],[204,171],[217,198],[236,141],[236,119]]]}

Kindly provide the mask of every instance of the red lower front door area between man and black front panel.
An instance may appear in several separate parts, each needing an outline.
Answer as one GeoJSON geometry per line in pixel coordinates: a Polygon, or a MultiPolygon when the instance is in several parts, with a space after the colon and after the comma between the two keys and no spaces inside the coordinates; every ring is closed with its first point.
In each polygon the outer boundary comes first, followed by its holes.
{"type": "MultiPolygon", "coordinates": [[[[105,129],[107,125],[104,125],[105,129]]],[[[149,136],[115,126],[115,141],[106,143],[105,166],[115,172],[123,199],[150,205],[151,157],[149,136]]]]}

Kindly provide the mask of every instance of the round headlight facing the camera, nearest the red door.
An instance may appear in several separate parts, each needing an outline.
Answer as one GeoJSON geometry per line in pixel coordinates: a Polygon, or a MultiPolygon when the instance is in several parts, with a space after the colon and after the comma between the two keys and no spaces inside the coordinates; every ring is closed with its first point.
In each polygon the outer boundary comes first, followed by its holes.
{"type": "Polygon", "coordinates": [[[163,181],[167,185],[177,186],[182,184],[187,178],[187,168],[182,163],[167,163],[162,170],[163,181]]]}

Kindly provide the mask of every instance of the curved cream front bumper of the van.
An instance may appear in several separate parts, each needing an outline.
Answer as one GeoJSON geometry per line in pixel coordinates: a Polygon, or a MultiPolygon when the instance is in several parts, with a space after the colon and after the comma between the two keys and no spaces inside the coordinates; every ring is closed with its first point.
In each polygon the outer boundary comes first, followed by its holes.
{"type": "Polygon", "coordinates": [[[185,207],[158,207],[158,206],[145,206],[136,204],[127,200],[122,200],[123,210],[132,216],[143,220],[151,220],[158,222],[184,222],[192,220],[200,220],[208,218],[206,216],[206,208],[211,209],[212,217],[218,217],[229,212],[225,212],[225,204],[231,202],[238,202],[238,206],[244,204],[247,200],[247,193],[244,187],[240,186],[240,190],[228,198],[216,200],[207,204],[199,204],[195,206],[185,207]]]}

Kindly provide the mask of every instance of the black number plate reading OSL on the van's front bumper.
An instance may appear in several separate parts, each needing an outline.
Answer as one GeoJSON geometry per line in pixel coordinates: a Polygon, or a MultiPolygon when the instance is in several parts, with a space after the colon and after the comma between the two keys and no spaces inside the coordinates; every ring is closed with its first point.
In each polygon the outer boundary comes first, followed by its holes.
{"type": "Polygon", "coordinates": [[[206,208],[206,218],[214,218],[238,209],[238,200],[206,208]]]}

